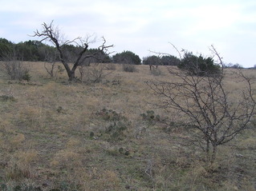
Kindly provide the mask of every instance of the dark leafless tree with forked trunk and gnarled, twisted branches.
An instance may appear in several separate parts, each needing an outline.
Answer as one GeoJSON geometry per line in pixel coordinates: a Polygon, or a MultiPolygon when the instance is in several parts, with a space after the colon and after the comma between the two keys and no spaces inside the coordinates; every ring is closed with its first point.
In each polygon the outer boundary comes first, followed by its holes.
{"type": "Polygon", "coordinates": [[[101,52],[106,52],[108,51],[108,48],[112,47],[111,46],[106,46],[106,40],[104,37],[103,43],[101,46],[98,47],[98,51],[92,53],[92,54],[85,54],[88,50],[89,47],[89,42],[88,39],[87,41],[83,41],[82,38],[75,38],[71,41],[63,41],[62,35],[60,34],[60,31],[58,27],[55,27],[53,25],[53,21],[48,25],[47,23],[43,22],[42,24],[43,30],[39,31],[36,30],[34,32],[33,37],[39,37],[42,38],[41,42],[49,40],[56,49],[59,51],[59,59],[63,63],[63,66],[65,67],[67,71],[67,75],[70,81],[75,80],[75,70],[77,69],[78,66],[82,65],[82,63],[87,59],[87,58],[97,58],[97,55],[100,54],[101,52]],[[72,64],[72,67],[68,65],[68,58],[66,55],[63,53],[63,46],[64,45],[70,45],[70,44],[75,44],[76,46],[79,46],[80,52],[77,54],[77,57],[75,58],[75,62],[72,64]]]}

